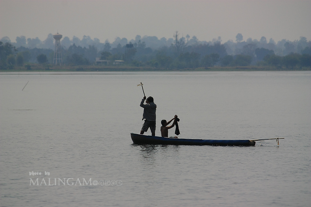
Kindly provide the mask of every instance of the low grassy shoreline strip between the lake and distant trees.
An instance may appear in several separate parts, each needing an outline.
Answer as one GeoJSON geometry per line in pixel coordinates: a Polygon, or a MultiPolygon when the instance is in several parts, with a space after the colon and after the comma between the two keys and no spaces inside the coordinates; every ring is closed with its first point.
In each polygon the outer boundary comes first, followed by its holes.
{"type": "Polygon", "coordinates": [[[273,66],[235,66],[235,67],[200,67],[200,68],[184,68],[184,69],[169,69],[169,68],[152,68],[152,67],[132,67],[125,65],[118,66],[103,66],[103,65],[42,65],[29,64],[30,70],[25,66],[15,66],[13,69],[0,70],[2,72],[141,72],[141,71],[310,71],[309,67],[295,68],[276,68],[273,66]]]}

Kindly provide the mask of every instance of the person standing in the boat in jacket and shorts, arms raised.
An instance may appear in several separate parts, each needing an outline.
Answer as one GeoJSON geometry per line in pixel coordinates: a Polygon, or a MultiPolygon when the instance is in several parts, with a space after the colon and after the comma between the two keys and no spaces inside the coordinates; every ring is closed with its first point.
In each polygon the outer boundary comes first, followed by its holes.
{"type": "Polygon", "coordinates": [[[144,113],[142,114],[142,119],[145,119],[145,123],[142,125],[142,130],[140,134],[144,134],[150,128],[151,135],[156,136],[156,104],[153,102],[153,98],[150,96],[146,100],[146,104],[144,101],[146,97],[142,99],[140,102],[140,106],[144,108],[144,113]]]}

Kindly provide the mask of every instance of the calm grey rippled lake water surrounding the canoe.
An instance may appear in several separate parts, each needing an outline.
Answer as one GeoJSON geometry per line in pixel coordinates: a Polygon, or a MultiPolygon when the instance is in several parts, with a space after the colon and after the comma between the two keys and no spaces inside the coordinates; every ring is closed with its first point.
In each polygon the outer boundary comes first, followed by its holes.
{"type": "Polygon", "coordinates": [[[309,71],[2,73],[0,205],[310,206],[310,106],[309,71]],[[285,139],[134,145],[140,82],[156,136],[285,139]]]}

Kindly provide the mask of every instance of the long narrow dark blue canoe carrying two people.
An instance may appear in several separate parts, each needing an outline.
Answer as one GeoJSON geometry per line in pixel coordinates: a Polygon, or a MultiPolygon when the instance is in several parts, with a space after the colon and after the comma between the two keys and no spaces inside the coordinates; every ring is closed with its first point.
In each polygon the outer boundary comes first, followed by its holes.
{"type": "Polygon", "coordinates": [[[254,146],[255,141],[250,140],[212,140],[212,139],[179,139],[156,137],[131,133],[134,144],[159,144],[159,145],[214,145],[214,146],[254,146]]]}

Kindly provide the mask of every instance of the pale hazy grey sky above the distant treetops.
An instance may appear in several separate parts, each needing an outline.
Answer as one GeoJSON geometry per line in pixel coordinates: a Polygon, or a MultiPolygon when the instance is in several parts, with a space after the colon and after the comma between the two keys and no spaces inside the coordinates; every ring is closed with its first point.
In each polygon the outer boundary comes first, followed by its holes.
{"type": "Polygon", "coordinates": [[[200,41],[238,33],[247,38],[311,40],[311,0],[0,0],[0,38],[60,33],[113,42],[116,37],[172,38],[175,31],[200,41]]]}

